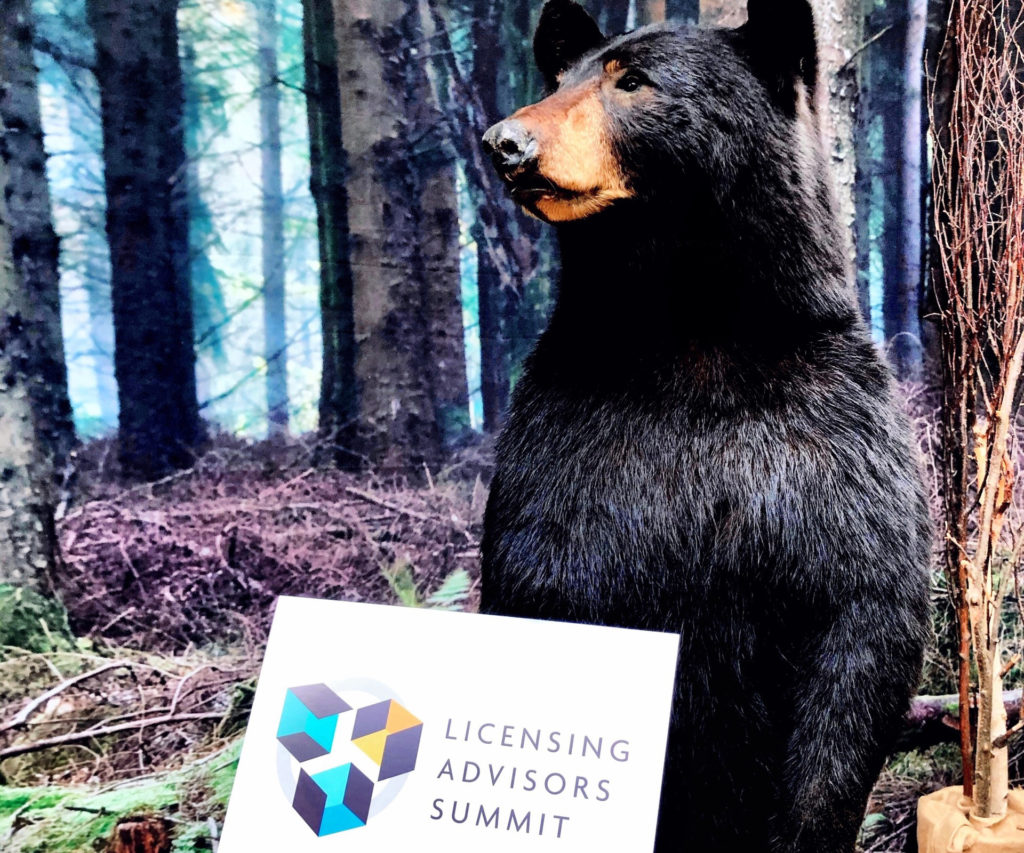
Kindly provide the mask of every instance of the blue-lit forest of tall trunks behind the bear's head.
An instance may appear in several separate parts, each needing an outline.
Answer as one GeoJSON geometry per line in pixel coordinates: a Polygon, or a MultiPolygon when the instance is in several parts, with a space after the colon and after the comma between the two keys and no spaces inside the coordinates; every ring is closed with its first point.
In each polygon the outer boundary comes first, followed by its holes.
{"type": "MultiPolygon", "coordinates": [[[[33,28],[0,75],[19,81],[10,136],[36,138],[25,103],[41,103],[46,173],[40,151],[12,147],[14,198],[35,200],[34,218],[12,216],[32,234],[15,255],[50,294],[33,346],[59,442],[120,415],[126,473],[152,478],[190,464],[210,429],[318,429],[337,461],[388,469],[436,466],[497,430],[558,260],[478,140],[542,94],[541,5],[6,2],[33,28]]],[[[667,15],[734,26],[745,6],[587,5],[606,32],[667,15]]],[[[945,9],[815,5],[861,307],[898,376],[920,380],[935,355],[925,68],[945,9]]]]}

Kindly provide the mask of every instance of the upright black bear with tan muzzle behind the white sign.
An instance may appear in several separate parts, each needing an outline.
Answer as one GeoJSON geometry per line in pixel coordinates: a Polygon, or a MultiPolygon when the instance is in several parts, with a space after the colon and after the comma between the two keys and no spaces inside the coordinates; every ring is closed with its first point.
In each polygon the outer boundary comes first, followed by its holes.
{"type": "Polygon", "coordinates": [[[659,853],[846,853],[920,676],[928,510],[848,281],[811,8],[748,13],[606,38],[550,0],[551,94],[484,137],[562,273],[481,606],[681,635],[659,853]]]}

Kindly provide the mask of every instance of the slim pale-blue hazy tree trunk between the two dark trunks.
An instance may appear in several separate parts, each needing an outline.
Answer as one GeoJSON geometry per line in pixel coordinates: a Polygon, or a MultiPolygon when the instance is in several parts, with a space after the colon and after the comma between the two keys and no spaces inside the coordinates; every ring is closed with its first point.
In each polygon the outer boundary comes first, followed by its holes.
{"type": "Polygon", "coordinates": [[[288,432],[288,358],[285,323],[285,190],[281,171],[281,89],[278,79],[278,4],[256,0],[259,40],[260,174],[263,233],[263,350],[267,433],[288,432]]]}

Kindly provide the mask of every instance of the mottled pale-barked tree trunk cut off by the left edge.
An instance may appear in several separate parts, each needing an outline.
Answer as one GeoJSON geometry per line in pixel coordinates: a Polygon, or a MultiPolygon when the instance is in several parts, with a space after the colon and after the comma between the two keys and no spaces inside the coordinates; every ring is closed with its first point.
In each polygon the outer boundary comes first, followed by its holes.
{"type": "Polygon", "coordinates": [[[55,575],[53,464],[41,429],[46,413],[36,411],[32,390],[40,381],[33,338],[40,304],[14,263],[5,201],[11,135],[0,116],[0,584],[45,594],[55,575]]]}

